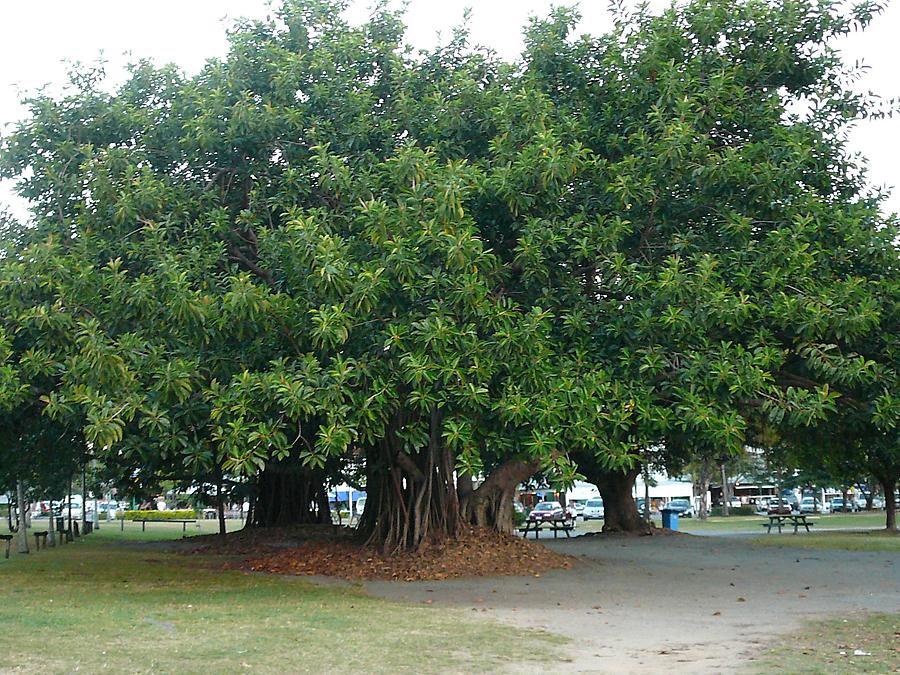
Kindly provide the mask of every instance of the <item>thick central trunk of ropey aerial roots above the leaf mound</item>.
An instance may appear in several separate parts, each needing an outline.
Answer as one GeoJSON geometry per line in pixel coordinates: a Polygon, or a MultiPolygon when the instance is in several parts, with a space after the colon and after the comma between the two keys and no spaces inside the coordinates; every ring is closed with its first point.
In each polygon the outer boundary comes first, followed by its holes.
{"type": "Polygon", "coordinates": [[[359,531],[387,554],[459,534],[459,497],[453,454],[441,442],[440,414],[430,415],[429,442],[414,454],[403,451],[393,420],[384,438],[367,449],[366,508],[359,531]]]}

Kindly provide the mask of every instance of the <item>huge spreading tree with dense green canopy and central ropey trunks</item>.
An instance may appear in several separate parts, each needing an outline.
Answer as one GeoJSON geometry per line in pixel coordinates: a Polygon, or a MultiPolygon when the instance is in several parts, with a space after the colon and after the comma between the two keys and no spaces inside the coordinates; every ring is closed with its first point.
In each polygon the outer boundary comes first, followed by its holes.
{"type": "Polygon", "coordinates": [[[848,448],[877,425],[896,452],[898,233],[828,46],[875,6],[695,1],[597,37],[557,10],[510,64],[342,8],[28,101],[0,154],[33,205],[0,261],[27,423],[0,456],[50,418],[130,480],[256,481],[258,524],[321,518],[362,467],[362,528],[398,549],[506,526],[536,471],[761,421],[852,417],[848,448]]]}

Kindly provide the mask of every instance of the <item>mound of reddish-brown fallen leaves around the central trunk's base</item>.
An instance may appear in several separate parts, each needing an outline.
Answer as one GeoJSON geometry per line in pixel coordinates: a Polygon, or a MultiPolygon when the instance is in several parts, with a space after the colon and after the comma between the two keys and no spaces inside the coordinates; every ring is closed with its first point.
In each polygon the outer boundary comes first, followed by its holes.
{"type": "Polygon", "coordinates": [[[226,567],[271,574],[322,575],[350,581],[435,581],[455,577],[535,576],[568,569],[576,559],[507,534],[483,528],[459,538],[425,545],[415,553],[382,555],[377,549],[319,538],[298,546],[260,552],[226,567]]]}

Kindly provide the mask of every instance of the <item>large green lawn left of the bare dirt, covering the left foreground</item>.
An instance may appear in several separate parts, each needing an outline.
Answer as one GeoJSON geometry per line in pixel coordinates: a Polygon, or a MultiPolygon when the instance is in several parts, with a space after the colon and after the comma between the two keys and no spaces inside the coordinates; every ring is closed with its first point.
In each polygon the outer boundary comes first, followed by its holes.
{"type": "Polygon", "coordinates": [[[540,667],[564,642],[139,543],[180,537],[180,526],[126,523],[0,558],[0,672],[473,672],[540,667]]]}

